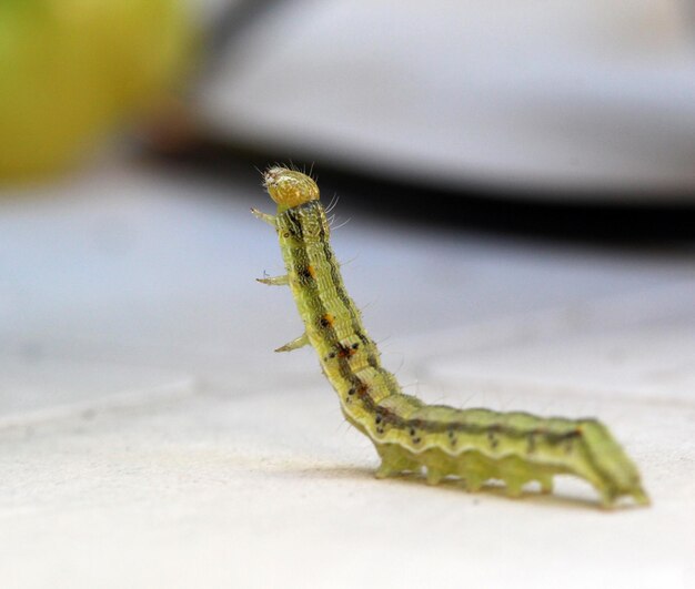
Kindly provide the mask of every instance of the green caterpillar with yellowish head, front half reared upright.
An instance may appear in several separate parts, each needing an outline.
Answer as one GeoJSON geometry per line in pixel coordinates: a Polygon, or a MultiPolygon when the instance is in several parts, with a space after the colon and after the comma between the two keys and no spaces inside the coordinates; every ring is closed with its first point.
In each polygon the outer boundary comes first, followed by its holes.
{"type": "Polygon", "coordinates": [[[471,491],[495,479],[507,496],[518,497],[527,483],[552,492],[555,475],[573,475],[595,488],[604,507],[624,496],[637,505],[649,502],[635,465],[596,419],[455,409],[403,394],[382,367],[345,291],[316,182],[272,166],[263,185],[278,212],[251,211],[275,229],[286,274],[258,281],[289,286],[304,323],[302,335],[275,352],[315,349],[345,419],[369,437],[381,458],[377,478],[424,474],[432,485],[456,478],[471,491]]]}

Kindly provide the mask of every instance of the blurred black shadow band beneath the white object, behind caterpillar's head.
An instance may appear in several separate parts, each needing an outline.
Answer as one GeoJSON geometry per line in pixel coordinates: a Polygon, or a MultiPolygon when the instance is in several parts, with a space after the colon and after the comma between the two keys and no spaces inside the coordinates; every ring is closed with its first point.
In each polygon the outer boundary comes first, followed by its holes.
{"type": "MultiPolygon", "coordinates": [[[[260,183],[258,170],[274,162],[289,163],[289,153],[259,152],[209,138],[189,141],[179,151],[160,152],[167,165],[188,166],[230,182],[248,175],[260,183]]],[[[350,206],[366,209],[405,223],[436,224],[454,230],[514,234],[544,240],[597,242],[631,247],[655,244],[695,245],[695,204],[662,194],[657,201],[633,203],[614,195],[562,191],[540,197],[534,191],[494,190],[469,184],[457,189],[399,181],[392,176],[336,166],[331,162],[293,161],[320,175],[324,194],[350,199],[350,206]]]]}

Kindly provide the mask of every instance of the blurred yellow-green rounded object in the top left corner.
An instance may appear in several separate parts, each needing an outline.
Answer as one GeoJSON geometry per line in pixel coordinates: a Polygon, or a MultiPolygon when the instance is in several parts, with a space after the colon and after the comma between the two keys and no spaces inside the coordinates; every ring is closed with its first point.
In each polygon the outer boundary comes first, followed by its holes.
{"type": "Polygon", "coordinates": [[[183,0],[0,0],[0,180],[77,164],[189,69],[183,0]]]}

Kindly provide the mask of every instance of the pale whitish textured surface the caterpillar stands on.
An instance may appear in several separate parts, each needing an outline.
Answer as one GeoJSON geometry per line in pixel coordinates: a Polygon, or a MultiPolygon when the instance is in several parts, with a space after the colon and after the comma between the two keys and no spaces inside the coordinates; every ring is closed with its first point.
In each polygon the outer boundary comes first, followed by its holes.
{"type": "Polygon", "coordinates": [[[571,479],[518,501],[375,480],[312,352],[271,352],[300,325],[252,280],[281,272],[258,179],[42,192],[0,203],[3,587],[695,582],[692,251],[387,227],[341,195],[384,364],[429,402],[600,416],[654,500],[606,514],[571,479]]]}

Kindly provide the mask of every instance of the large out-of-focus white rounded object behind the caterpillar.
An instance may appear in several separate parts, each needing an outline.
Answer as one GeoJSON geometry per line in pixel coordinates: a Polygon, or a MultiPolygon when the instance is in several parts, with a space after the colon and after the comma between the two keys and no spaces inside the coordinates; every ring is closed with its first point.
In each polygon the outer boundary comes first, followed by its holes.
{"type": "Polygon", "coordinates": [[[275,153],[454,186],[693,199],[685,0],[281,2],[223,64],[201,119],[275,153]]]}

